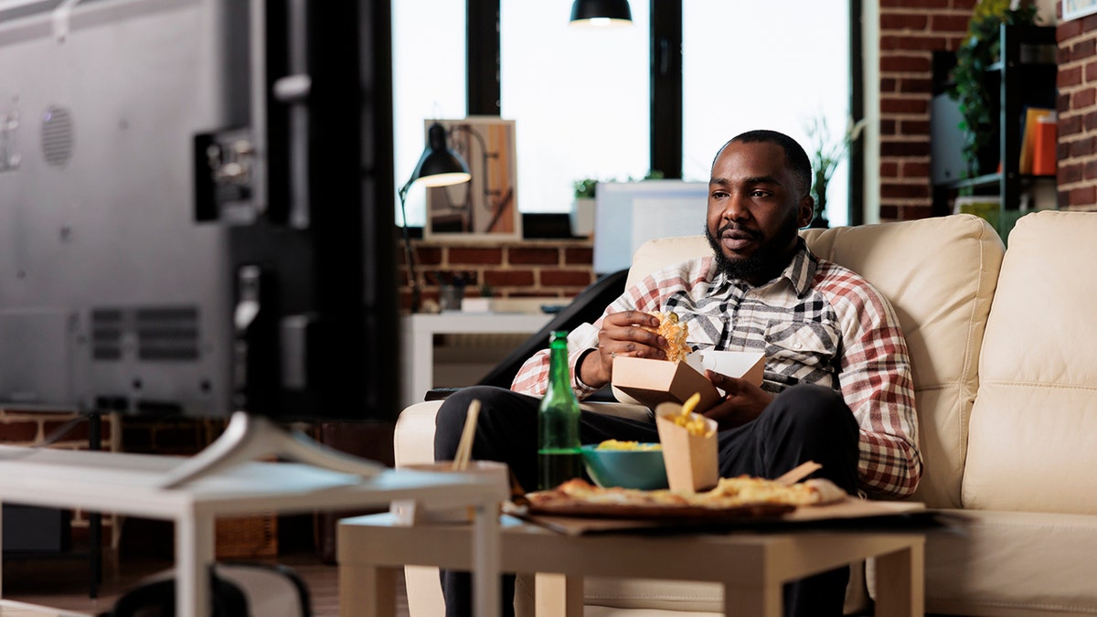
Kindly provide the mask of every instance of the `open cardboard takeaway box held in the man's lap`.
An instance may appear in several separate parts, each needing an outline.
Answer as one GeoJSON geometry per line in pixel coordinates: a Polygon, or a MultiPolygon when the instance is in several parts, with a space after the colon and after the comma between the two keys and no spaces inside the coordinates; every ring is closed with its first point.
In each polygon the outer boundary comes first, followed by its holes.
{"type": "Polygon", "coordinates": [[[746,379],[761,385],[765,369],[761,351],[694,351],[685,362],[620,356],[613,359],[613,391],[624,403],[641,403],[651,410],[659,403],[685,403],[693,393],[701,395],[698,412],[723,397],[704,377],[705,370],[746,379]]]}

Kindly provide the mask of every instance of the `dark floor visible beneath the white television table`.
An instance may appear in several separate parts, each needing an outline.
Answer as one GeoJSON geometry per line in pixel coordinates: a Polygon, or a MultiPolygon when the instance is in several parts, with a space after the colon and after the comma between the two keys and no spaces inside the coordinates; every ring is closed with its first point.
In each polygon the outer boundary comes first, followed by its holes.
{"type": "MultiPolygon", "coordinates": [[[[315,617],[339,615],[338,568],[323,563],[312,552],[280,556],[278,563],[293,568],[308,585],[315,617]]],[[[117,597],[145,576],[168,570],[172,563],[158,558],[123,558],[108,568],[98,598],[88,597],[88,566],[83,560],[4,560],[4,599],[48,606],[60,610],[98,615],[109,610],[117,597]],[[113,572],[111,572],[113,570],[113,572]]],[[[403,576],[397,581],[397,617],[407,616],[403,576]]]]}

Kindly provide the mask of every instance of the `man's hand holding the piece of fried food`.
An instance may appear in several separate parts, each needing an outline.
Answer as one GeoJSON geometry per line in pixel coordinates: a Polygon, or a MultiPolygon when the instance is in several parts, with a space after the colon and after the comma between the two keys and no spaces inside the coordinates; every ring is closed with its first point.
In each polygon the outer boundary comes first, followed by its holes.
{"type": "Polygon", "coordinates": [[[641,326],[659,327],[659,319],[641,311],[611,313],[602,319],[598,330],[598,349],[587,356],[579,367],[579,379],[591,388],[601,388],[613,378],[613,358],[653,358],[666,360],[667,339],[641,326]]]}

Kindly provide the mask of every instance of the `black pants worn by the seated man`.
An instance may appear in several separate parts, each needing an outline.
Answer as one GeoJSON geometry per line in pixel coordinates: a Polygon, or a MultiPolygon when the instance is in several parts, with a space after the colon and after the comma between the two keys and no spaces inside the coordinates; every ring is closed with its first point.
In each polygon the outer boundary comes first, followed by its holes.
{"type": "MultiPolygon", "coordinates": [[[[442,404],[436,420],[434,458],[450,460],[465,423],[468,404],[480,402],[474,459],[502,461],[527,490],[536,487],[536,413],[540,399],[499,388],[460,390],[442,404]]],[[[584,412],[584,444],[606,439],[658,441],[654,423],[584,412]]],[[[827,478],[853,494],[857,491],[858,425],[836,392],[818,385],[785,390],[754,422],[720,433],[720,474],[777,478],[813,460],[823,465],[816,476],[827,478]]],[[[703,560],[702,556],[698,557],[703,560]]],[[[472,582],[465,572],[442,572],[448,617],[472,615],[472,582]]],[[[785,585],[784,614],[840,616],[849,568],[839,568],[785,585]]],[[[513,576],[504,576],[502,615],[513,615],[513,576]]]]}

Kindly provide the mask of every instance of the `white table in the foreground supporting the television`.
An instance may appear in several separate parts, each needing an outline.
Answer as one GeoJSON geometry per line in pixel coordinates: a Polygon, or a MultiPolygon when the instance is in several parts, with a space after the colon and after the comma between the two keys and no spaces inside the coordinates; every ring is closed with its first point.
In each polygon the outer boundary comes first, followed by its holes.
{"type": "Polygon", "coordinates": [[[476,520],[466,539],[475,570],[483,573],[476,576],[477,614],[498,613],[499,604],[494,601],[498,597],[496,515],[508,495],[494,479],[410,470],[361,478],[299,463],[249,462],[180,489],[160,487],[183,460],[0,446],[0,501],[174,521],[176,614],[180,617],[208,613],[205,573],[214,561],[217,516],[374,507],[394,500],[417,500],[437,507],[473,506],[476,520]]]}

